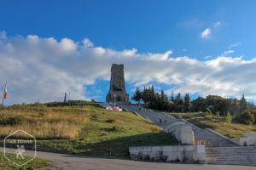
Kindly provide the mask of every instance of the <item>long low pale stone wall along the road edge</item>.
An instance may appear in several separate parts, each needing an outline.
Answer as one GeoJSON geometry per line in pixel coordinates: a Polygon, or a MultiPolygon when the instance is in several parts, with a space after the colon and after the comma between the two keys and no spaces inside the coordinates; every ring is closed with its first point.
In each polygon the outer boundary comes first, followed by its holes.
{"type": "Polygon", "coordinates": [[[206,163],[204,145],[129,147],[132,160],[206,163]]]}

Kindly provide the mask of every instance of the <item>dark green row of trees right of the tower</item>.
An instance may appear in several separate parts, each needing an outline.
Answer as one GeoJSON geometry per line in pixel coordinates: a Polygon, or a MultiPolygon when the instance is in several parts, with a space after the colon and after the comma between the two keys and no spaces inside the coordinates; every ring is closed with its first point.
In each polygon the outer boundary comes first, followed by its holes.
{"type": "Polygon", "coordinates": [[[191,99],[189,93],[174,95],[172,92],[171,97],[168,98],[163,90],[155,92],[152,85],[148,88],[144,87],[143,90],[136,88],[131,99],[156,111],[204,112],[225,116],[229,120],[228,122],[256,123],[256,107],[247,102],[244,95],[241,96],[241,99],[226,99],[218,95],[208,95],[206,98],[198,96],[196,99],[191,99]]]}

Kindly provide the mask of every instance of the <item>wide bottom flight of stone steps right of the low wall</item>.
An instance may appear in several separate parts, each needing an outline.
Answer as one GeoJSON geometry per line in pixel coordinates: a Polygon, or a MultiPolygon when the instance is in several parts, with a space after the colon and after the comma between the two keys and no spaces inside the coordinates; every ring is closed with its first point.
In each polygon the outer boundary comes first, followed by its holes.
{"type": "Polygon", "coordinates": [[[207,147],[207,163],[256,166],[256,146],[207,147]]]}

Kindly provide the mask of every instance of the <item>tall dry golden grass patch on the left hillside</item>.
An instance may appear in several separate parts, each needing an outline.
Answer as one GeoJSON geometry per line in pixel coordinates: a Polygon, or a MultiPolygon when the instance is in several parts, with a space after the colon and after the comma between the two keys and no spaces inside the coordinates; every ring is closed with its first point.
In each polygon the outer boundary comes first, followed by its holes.
{"type": "Polygon", "coordinates": [[[89,110],[78,106],[11,106],[0,111],[0,136],[22,129],[37,139],[75,139],[88,120],[89,110]]]}

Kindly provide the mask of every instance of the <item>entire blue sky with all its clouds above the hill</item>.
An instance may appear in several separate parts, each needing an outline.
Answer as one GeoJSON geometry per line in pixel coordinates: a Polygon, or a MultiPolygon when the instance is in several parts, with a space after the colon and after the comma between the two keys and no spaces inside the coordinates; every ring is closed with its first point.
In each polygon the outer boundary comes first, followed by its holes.
{"type": "Polygon", "coordinates": [[[110,67],[127,91],[256,99],[255,1],[2,1],[0,87],[7,105],[104,101],[110,67]]]}

